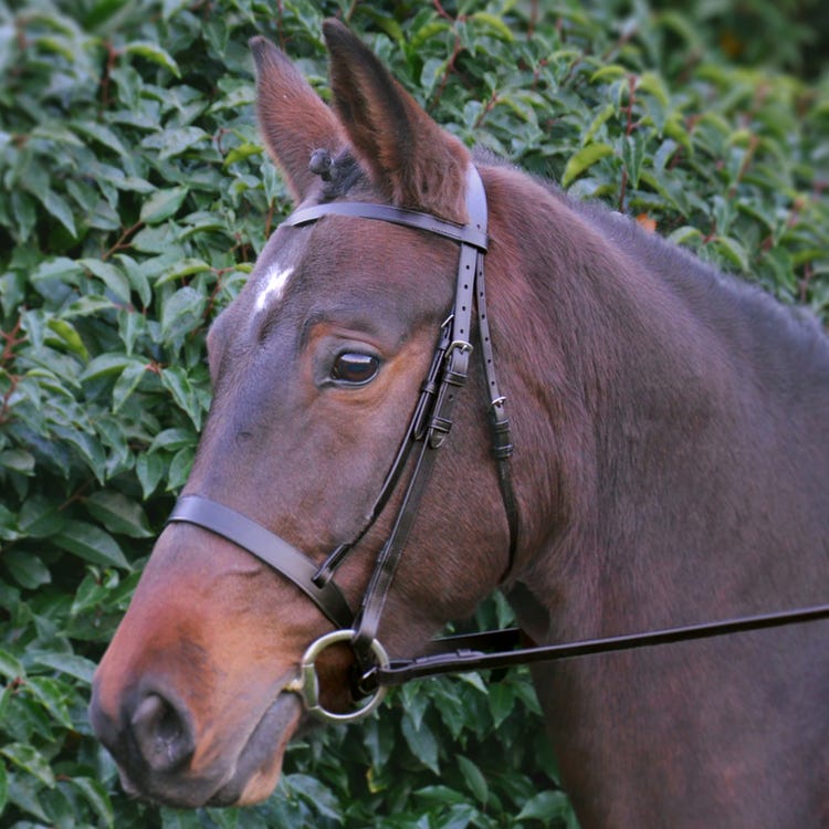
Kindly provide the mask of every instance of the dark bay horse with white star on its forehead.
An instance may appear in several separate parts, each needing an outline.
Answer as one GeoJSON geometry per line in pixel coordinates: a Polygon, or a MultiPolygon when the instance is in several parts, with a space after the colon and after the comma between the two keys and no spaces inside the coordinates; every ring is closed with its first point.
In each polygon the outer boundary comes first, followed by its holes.
{"type": "MultiPolygon", "coordinates": [[[[344,25],[324,33],[330,108],[252,41],[264,141],[298,210],[211,327],[181,506],[94,680],[124,788],[159,802],[272,791],[307,716],[312,642],[318,710],[347,715],[355,661],[427,652],[496,586],[539,644],[829,592],[817,323],[471,154],[344,25]],[[483,261],[485,312],[462,295],[483,261]]],[[[829,826],[828,633],[534,665],[581,826],[829,826]]]]}

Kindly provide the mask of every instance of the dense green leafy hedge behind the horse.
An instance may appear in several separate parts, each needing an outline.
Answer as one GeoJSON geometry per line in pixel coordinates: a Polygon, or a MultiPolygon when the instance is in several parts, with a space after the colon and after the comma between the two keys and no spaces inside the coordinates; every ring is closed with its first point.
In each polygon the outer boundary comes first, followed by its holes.
{"type": "Polygon", "coordinates": [[[325,94],[319,23],[345,18],[463,140],[826,318],[829,12],[684,8],[0,0],[1,826],[576,825],[523,671],[401,690],[297,743],[245,810],[126,799],[85,706],[187,476],[204,332],[290,209],[246,40],[283,45],[325,94]]]}

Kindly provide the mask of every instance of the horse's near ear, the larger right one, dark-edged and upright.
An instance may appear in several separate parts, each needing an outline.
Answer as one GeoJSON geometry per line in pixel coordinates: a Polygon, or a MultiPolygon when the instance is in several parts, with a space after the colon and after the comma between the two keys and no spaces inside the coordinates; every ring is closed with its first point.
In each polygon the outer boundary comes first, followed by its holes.
{"type": "Polygon", "coordinates": [[[466,148],[343,23],[326,20],[323,32],[337,115],[375,187],[398,207],[465,222],[466,148]]]}

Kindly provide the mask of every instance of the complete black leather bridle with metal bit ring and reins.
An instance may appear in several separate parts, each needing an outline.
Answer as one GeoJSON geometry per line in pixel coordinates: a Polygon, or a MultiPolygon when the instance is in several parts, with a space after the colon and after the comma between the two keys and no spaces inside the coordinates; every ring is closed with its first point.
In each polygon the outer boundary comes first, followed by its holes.
{"type": "Polygon", "coordinates": [[[371,507],[370,520],[357,537],[334,549],[322,565],[317,565],[304,553],[251,518],[201,495],[180,497],[169,517],[169,522],[195,524],[246,549],[293,581],[335,626],[333,632],[321,637],[308,647],[301,663],[298,678],[285,690],[302,694],[307,709],[322,718],[348,721],[363,717],[377,707],[390,685],[402,684],[422,676],[506,668],[518,663],[604,653],[829,618],[829,605],[823,605],[784,613],[743,617],[736,620],[649,631],[627,637],[518,650],[515,650],[515,647],[521,643],[520,631],[510,629],[436,640],[431,648],[432,651],[438,651],[434,655],[393,662],[389,659],[377,639],[377,631],[395,571],[414,523],[420,500],[430,480],[438,450],[444,444],[450,432],[454,406],[468,379],[469,358],[473,350],[471,342],[473,319],[478,324],[478,337],[490,400],[487,413],[492,457],[510,532],[507,573],[512,568],[517,545],[520,522],[510,465],[510,457],[513,452],[510,420],[506,416],[506,398],[501,393],[495,377],[486,311],[484,285],[484,255],[489,244],[486,193],[473,165],[470,165],[466,171],[466,210],[469,221],[460,225],[428,213],[389,204],[335,201],[301,208],[282,222],[281,227],[296,228],[316,222],[326,216],[372,219],[437,234],[458,242],[460,246],[452,312],[440,328],[438,344],[421,386],[413,414],[379,495],[371,507]],[[391,531],[377,556],[360,607],[357,612],[354,612],[334,580],[334,576],[349,550],[374,525],[407,469],[410,472],[391,531]],[[348,642],[356,658],[351,675],[351,693],[359,702],[353,711],[347,713],[328,711],[319,703],[316,659],[322,651],[337,642],[348,642]],[[484,652],[491,649],[495,649],[496,652],[484,652]]]}

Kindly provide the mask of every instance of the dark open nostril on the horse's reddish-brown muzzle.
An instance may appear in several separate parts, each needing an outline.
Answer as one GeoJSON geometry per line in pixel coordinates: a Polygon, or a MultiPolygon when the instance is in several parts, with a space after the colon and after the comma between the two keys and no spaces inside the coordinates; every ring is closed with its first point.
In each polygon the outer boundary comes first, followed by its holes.
{"type": "Polygon", "coordinates": [[[138,703],[130,724],[141,756],[155,772],[170,772],[193,753],[188,718],[159,694],[148,693],[138,703]]]}

